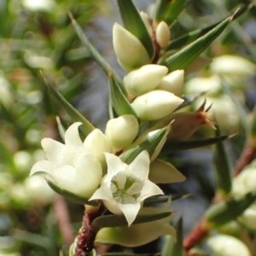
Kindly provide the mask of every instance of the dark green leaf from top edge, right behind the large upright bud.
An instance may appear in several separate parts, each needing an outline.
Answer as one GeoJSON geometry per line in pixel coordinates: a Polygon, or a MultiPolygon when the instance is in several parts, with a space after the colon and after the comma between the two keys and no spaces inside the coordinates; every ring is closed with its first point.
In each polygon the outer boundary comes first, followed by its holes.
{"type": "Polygon", "coordinates": [[[142,42],[148,51],[148,55],[152,58],[154,56],[154,45],[137,7],[132,0],[117,0],[117,3],[125,29],[142,42]]]}

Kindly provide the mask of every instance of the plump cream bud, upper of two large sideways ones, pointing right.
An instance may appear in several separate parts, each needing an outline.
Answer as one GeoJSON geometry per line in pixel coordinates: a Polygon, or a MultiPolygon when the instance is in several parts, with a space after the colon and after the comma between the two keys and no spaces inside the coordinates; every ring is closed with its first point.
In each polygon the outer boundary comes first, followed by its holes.
{"type": "Polygon", "coordinates": [[[168,68],[165,66],[144,65],[125,76],[125,88],[131,95],[141,96],[150,90],[154,90],[167,72],[168,68]]]}

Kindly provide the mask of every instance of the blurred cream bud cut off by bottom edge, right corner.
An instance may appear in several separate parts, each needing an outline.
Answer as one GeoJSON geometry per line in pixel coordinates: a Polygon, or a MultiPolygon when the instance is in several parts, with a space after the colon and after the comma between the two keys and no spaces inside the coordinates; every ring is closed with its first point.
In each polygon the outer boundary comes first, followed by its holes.
{"type": "Polygon", "coordinates": [[[216,256],[252,256],[248,247],[234,236],[222,234],[211,236],[207,238],[207,245],[216,256]]]}

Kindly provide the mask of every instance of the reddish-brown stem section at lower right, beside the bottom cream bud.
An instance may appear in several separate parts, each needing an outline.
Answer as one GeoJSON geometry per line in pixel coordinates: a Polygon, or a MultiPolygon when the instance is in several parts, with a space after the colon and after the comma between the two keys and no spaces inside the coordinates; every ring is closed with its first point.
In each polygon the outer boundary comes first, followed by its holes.
{"type": "Polygon", "coordinates": [[[208,233],[205,220],[201,222],[192,230],[188,236],[184,238],[183,247],[186,251],[189,251],[192,247],[198,244],[208,233]]]}

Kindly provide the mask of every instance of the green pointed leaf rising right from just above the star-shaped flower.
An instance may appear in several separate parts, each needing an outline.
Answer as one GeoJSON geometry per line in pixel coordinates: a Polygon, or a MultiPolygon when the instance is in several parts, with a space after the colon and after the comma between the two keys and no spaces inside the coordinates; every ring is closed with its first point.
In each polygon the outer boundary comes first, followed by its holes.
{"type": "Polygon", "coordinates": [[[154,135],[147,137],[142,143],[127,149],[123,154],[119,155],[119,158],[129,165],[143,150],[147,150],[149,156],[152,157],[161,140],[166,136],[166,132],[169,132],[169,130],[169,126],[160,129],[154,135]]]}

